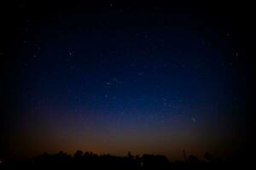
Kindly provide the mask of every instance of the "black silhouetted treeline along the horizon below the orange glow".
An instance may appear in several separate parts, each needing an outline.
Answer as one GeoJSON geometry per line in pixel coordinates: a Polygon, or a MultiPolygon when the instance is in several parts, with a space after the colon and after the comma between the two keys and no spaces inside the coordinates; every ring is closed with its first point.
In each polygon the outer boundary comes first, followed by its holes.
{"type": "MultiPolygon", "coordinates": [[[[235,160],[236,161],[236,160],[235,160]]],[[[1,163],[29,163],[34,165],[65,165],[79,166],[84,169],[172,169],[172,167],[193,167],[212,166],[223,163],[234,163],[233,161],[222,161],[210,153],[205,154],[205,158],[200,160],[196,156],[184,156],[183,161],[171,161],[166,156],[144,154],[143,156],[133,156],[128,152],[127,156],[112,156],[109,154],[97,155],[92,152],[77,150],[73,156],[61,151],[55,154],[44,153],[40,156],[27,159],[26,161],[1,161],[1,163]]],[[[236,161],[238,162],[238,161],[236,161]]]]}

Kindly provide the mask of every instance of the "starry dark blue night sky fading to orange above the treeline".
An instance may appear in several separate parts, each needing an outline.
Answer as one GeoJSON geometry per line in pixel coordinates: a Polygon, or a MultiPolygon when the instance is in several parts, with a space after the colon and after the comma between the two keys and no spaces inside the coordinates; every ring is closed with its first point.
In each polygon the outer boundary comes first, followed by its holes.
{"type": "Polygon", "coordinates": [[[4,3],[0,156],[243,151],[250,19],[205,5],[4,3]]]}

